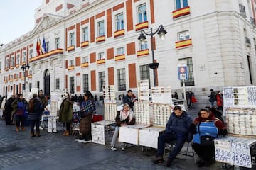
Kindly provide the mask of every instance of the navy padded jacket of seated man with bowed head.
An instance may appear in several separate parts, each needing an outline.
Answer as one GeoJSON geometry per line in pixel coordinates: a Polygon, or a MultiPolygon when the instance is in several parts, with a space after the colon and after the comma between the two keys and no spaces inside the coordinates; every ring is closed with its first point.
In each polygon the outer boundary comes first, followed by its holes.
{"type": "Polygon", "coordinates": [[[165,132],[187,134],[192,122],[192,118],[186,111],[182,111],[182,115],[179,117],[172,112],[166,124],[165,132]]]}

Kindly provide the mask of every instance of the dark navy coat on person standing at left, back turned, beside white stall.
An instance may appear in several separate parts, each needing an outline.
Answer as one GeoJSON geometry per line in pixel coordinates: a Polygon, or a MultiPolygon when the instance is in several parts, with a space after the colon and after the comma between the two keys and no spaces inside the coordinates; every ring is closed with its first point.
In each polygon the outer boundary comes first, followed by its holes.
{"type": "Polygon", "coordinates": [[[33,102],[33,110],[28,109],[28,120],[40,120],[41,115],[44,111],[43,104],[39,101],[38,98],[33,98],[29,101],[28,106],[33,102]]]}

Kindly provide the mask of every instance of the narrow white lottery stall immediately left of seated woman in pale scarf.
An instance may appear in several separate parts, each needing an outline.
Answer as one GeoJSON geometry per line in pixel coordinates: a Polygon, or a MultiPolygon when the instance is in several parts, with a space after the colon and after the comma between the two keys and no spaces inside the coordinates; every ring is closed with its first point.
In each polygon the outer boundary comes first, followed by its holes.
{"type": "Polygon", "coordinates": [[[117,115],[117,102],[115,100],[114,86],[103,87],[104,97],[104,120],[92,123],[92,142],[100,145],[105,145],[107,134],[110,131],[110,125],[115,123],[117,115]]]}

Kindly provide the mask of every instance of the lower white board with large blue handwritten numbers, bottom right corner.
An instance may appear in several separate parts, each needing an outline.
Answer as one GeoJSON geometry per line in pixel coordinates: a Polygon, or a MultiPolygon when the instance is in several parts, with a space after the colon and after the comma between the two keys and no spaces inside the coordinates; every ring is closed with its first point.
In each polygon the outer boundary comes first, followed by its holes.
{"type": "Polygon", "coordinates": [[[244,137],[224,137],[214,140],[215,160],[235,166],[252,168],[250,147],[256,139],[244,137]]]}

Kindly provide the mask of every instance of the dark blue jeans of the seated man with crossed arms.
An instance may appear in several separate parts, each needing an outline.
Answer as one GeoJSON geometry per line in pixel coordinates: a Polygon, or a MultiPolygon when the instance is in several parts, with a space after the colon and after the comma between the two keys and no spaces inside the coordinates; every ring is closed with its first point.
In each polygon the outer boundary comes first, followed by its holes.
{"type": "Polygon", "coordinates": [[[170,161],[174,160],[177,154],[181,151],[184,143],[186,142],[187,134],[186,133],[164,133],[158,137],[158,147],[157,147],[157,156],[162,157],[164,155],[164,147],[166,142],[171,142],[176,140],[176,146],[171,150],[168,159],[170,161]]]}

